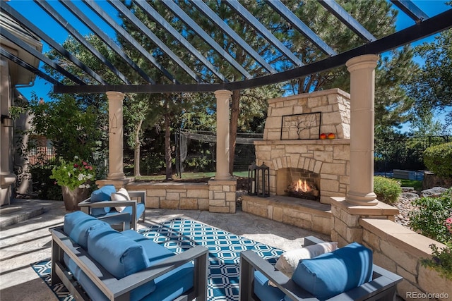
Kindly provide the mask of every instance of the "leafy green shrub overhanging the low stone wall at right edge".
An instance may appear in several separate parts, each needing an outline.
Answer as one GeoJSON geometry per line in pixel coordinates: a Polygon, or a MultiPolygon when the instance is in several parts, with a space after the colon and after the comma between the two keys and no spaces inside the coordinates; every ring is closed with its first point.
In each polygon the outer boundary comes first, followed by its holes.
{"type": "Polygon", "coordinates": [[[440,197],[420,197],[412,201],[419,210],[410,212],[410,227],[433,240],[452,242],[451,233],[445,221],[452,214],[452,190],[446,190],[440,197]]]}

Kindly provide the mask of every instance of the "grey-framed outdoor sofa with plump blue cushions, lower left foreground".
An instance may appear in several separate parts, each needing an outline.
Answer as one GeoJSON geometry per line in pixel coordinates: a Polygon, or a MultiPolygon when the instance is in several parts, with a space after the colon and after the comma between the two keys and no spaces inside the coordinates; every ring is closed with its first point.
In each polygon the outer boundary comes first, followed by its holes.
{"type": "Polygon", "coordinates": [[[52,285],[64,283],[75,300],[207,299],[205,247],[174,254],[82,211],[66,214],[64,226],[50,232],[52,285]]]}

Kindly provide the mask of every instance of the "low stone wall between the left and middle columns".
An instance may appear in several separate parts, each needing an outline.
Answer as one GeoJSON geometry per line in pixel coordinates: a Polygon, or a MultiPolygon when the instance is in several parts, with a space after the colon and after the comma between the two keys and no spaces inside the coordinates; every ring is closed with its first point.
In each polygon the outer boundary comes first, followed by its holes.
{"type": "Polygon", "coordinates": [[[127,190],[145,190],[146,208],[209,209],[208,183],[129,183],[127,190]]]}

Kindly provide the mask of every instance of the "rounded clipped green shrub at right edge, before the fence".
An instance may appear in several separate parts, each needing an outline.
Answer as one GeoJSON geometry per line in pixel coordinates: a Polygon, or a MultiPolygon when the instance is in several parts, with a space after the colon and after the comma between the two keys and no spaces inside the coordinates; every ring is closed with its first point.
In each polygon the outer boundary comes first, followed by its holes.
{"type": "Polygon", "coordinates": [[[452,178],[452,142],[425,149],[424,165],[436,176],[452,178]]]}

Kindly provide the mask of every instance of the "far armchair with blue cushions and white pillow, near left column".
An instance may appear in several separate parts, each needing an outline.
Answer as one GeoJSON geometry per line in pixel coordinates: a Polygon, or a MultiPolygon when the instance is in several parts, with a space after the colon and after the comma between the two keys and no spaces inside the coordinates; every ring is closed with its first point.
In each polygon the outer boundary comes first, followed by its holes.
{"type": "Polygon", "coordinates": [[[138,219],[145,220],[145,199],[145,191],[127,191],[124,188],[117,191],[114,185],[105,185],[78,206],[85,214],[97,219],[108,218],[108,223],[120,225],[121,231],[137,230],[138,219]]]}

